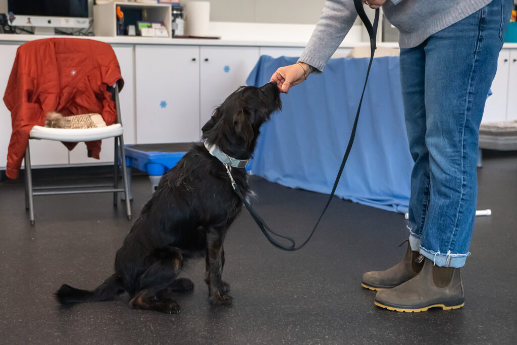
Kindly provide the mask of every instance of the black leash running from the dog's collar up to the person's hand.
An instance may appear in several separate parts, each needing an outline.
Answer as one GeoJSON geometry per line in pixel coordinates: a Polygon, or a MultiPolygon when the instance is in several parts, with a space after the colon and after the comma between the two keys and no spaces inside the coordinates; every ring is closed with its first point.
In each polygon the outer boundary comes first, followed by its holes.
{"type": "Polygon", "coordinates": [[[350,150],[352,149],[352,144],[354,143],[355,133],[357,129],[357,122],[359,120],[359,113],[361,111],[361,104],[362,104],[362,98],[364,96],[364,91],[366,90],[366,84],[368,82],[368,76],[370,74],[370,68],[372,67],[373,62],[373,55],[375,53],[376,44],[376,36],[377,36],[377,24],[379,21],[379,10],[375,10],[375,19],[372,23],[370,23],[370,20],[368,19],[368,16],[366,15],[366,12],[364,12],[364,8],[362,5],[361,0],[354,0],[354,6],[357,10],[357,14],[359,14],[359,17],[361,18],[362,22],[364,23],[364,26],[366,26],[366,29],[368,31],[368,35],[370,36],[370,63],[368,64],[368,70],[366,72],[366,80],[364,80],[364,86],[362,88],[362,94],[361,99],[359,100],[359,106],[357,107],[357,113],[354,121],[354,126],[352,127],[352,133],[350,134],[350,139],[348,140],[348,145],[346,146],[345,155],[343,157],[343,161],[341,162],[341,167],[339,168],[338,176],[336,177],[336,181],[334,182],[334,186],[332,187],[332,192],[330,193],[330,196],[328,198],[327,204],[325,205],[325,208],[323,209],[322,214],[320,215],[320,218],[318,218],[316,225],[314,226],[314,229],[312,229],[311,234],[309,237],[303,242],[300,246],[296,247],[296,243],[294,242],[294,239],[290,237],[286,237],[280,234],[277,234],[276,232],[272,231],[271,228],[266,224],[266,222],[261,218],[260,215],[258,215],[255,210],[251,207],[251,205],[246,201],[246,198],[242,195],[241,191],[239,190],[239,186],[235,183],[232,173],[230,171],[230,167],[228,164],[225,164],[226,171],[228,175],[230,176],[230,181],[232,182],[233,189],[235,190],[235,193],[237,193],[237,196],[242,201],[244,206],[248,209],[248,212],[250,213],[251,217],[255,220],[258,227],[262,230],[262,233],[264,233],[264,236],[266,236],[267,240],[275,247],[286,250],[286,251],[295,251],[298,249],[303,248],[311,239],[312,235],[314,235],[314,232],[316,231],[316,228],[318,224],[320,224],[320,220],[322,219],[323,215],[325,214],[325,211],[327,211],[328,205],[330,204],[330,201],[332,201],[332,197],[334,196],[334,193],[336,192],[336,188],[338,187],[339,179],[341,178],[341,174],[343,172],[343,169],[345,167],[346,160],[348,159],[348,155],[350,154],[350,150]],[[283,238],[291,243],[291,246],[286,247],[280,242],[276,241],[275,238],[273,238],[270,234],[275,235],[277,237],[283,238]]]}

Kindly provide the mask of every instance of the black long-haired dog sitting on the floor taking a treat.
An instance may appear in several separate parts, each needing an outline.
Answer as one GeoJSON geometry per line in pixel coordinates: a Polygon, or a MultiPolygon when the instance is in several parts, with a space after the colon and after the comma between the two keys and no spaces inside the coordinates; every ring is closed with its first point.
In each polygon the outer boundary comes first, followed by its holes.
{"type": "MultiPolygon", "coordinates": [[[[203,138],[230,157],[249,159],[261,125],[280,108],[275,83],[240,87],[203,126],[203,138]]],[[[248,192],[246,171],[233,168],[232,175],[248,192]]],[[[230,305],[230,287],[221,279],[223,241],[241,207],[224,164],[195,144],[161,178],[117,251],[115,274],[93,291],[64,284],[56,297],[62,304],[107,301],[126,291],[132,308],[176,313],[179,305],[172,294],[194,288],[190,279],[177,279],[185,260],[205,256],[210,301],[230,305]]]]}

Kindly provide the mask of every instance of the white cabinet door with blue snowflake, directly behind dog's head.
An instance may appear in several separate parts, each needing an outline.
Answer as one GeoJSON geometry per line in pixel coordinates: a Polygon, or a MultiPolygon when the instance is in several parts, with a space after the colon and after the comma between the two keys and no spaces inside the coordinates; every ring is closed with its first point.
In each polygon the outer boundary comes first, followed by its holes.
{"type": "Polygon", "coordinates": [[[246,79],[258,61],[257,47],[201,47],[200,125],[246,79]]]}

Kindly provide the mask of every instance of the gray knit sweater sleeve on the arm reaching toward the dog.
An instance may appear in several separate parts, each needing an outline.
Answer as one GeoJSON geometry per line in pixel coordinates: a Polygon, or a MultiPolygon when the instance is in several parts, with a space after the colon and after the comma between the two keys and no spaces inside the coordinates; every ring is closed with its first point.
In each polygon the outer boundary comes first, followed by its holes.
{"type": "Polygon", "coordinates": [[[315,73],[323,72],[356,18],[353,0],[327,0],[320,21],[298,61],[314,67],[315,73]]]}

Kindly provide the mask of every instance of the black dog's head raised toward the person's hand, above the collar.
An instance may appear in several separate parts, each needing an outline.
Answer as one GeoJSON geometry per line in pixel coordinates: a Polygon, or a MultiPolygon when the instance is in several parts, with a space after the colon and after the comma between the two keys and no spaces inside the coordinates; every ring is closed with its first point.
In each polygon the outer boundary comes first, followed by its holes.
{"type": "Polygon", "coordinates": [[[280,90],[275,82],[262,87],[241,86],[203,126],[203,139],[229,156],[248,159],[255,149],[260,126],[281,108],[280,90]]]}

